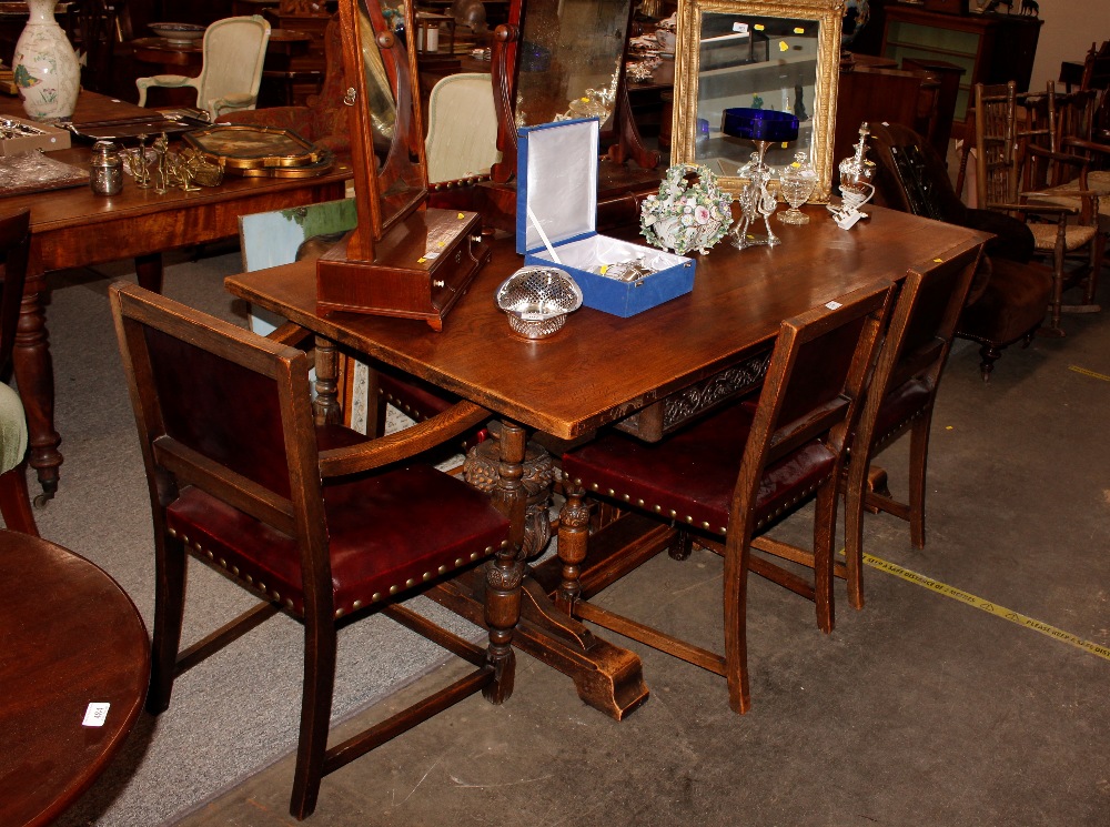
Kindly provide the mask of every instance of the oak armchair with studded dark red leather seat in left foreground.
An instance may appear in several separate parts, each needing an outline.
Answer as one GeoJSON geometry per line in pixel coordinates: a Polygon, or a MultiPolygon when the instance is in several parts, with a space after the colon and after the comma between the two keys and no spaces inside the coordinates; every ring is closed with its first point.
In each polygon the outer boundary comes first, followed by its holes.
{"type": "Polygon", "coordinates": [[[482,690],[512,693],[519,616],[508,520],[420,455],[483,422],[460,403],[369,440],[314,425],[309,361],[293,347],[133,284],[109,289],[154,520],[157,594],[147,708],[174,679],[278,612],[304,625],[304,683],[290,811],[310,815],[324,775],[482,690]],[[179,652],[189,557],[261,603],[179,652]],[[437,581],[496,557],[486,583],[490,643],[464,641],[403,605],[437,581]],[[336,632],[381,613],[474,672],[327,747],[336,632]]]}

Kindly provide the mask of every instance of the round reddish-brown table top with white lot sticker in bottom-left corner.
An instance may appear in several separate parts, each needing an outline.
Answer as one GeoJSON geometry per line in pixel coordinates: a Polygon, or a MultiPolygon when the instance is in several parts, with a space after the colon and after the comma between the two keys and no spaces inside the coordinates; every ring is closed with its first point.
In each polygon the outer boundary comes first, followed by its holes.
{"type": "Polygon", "coordinates": [[[138,719],[150,641],[115,581],[39,537],[0,531],[0,824],[49,824],[138,719]]]}

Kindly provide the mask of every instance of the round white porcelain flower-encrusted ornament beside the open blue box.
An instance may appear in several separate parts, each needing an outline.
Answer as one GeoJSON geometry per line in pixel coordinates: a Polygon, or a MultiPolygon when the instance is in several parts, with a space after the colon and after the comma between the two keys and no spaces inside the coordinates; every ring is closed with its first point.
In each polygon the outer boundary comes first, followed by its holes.
{"type": "Polygon", "coordinates": [[[733,222],[731,202],[708,167],[675,164],[667,170],[659,194],[648,195],[640,206],[640,234],[679,255],[688,250],[708,252],[733,222]],[[697,175],[696,183],[687,180],[692,173],[697,175]]]}

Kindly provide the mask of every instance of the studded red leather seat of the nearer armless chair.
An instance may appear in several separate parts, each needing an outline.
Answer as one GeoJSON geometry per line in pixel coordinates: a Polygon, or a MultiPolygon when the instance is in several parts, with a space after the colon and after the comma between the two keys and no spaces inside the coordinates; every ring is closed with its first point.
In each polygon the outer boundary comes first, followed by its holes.
{"type": "MultiPolygon", "coordinates": [[[[563,471],[587,491],[724,534],[754,411],[730,405],[658,443],[606,433],[564,456],[563,471]]],[[[756,526],[810,494],[835,464],[836,455],[814,440],[768,465],[756,526]]]]}

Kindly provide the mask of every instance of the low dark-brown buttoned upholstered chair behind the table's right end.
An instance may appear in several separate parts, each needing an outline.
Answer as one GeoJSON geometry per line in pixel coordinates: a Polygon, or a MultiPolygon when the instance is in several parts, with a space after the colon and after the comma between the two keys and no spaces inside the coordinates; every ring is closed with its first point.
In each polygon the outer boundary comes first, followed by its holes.
{"type": "Polygon", "coordinates": [[[1002,350],[1019,340],[1028,343],[1043,321],[1052,271],[1031,261],[1033,238],[1025,222],[963,205],[944,162],[916,132],[874,124],[871,147],[879,167],[878,203],[995,235],[956,327],[957,336],[980,343],[980,371],[987,381],[1002,350]]]}

